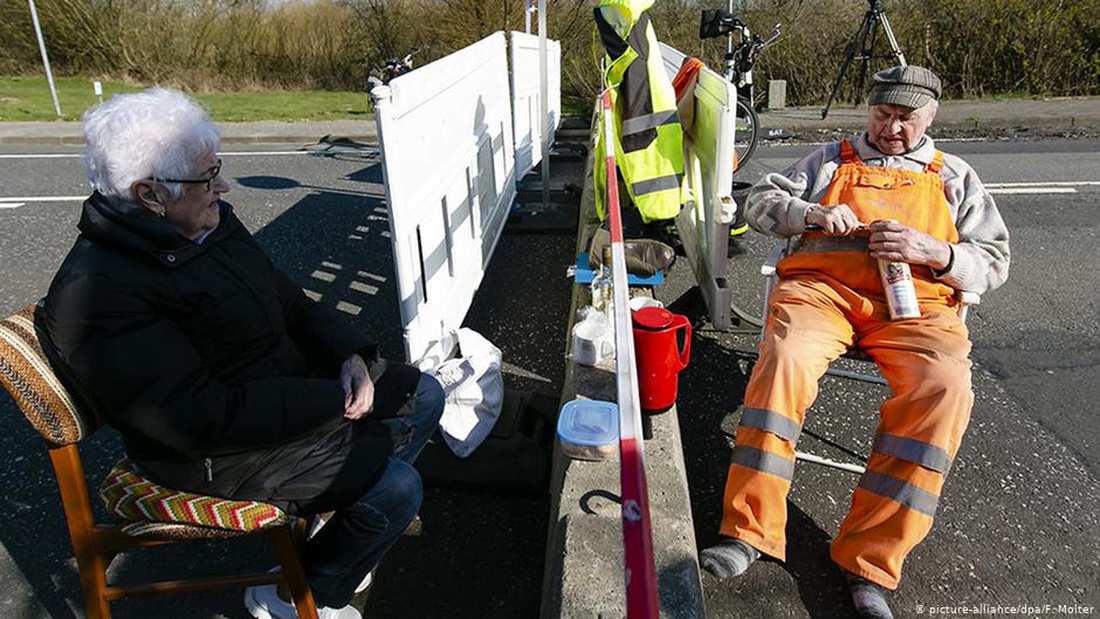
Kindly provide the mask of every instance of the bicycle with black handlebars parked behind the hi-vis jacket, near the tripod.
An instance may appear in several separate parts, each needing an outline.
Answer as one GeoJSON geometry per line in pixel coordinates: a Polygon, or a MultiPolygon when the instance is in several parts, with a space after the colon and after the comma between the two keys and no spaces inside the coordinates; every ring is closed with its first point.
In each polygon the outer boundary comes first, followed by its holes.
{"type": "MultiPolygon", "coordinates": [[[[733,9],[733,7],[730,7],[733,9]]],[[[760,140],[760,120],[756,111],[756,91],[752,85],[752,67],[757,57],[782,34],[781,24],[776,24],[771,36],[762,38],[752,34],[748,24],[730,12],[722,9],[703,11],[700,18],[698,37],[726,36],[723,77],[737,86],[736,130],[734,131],[734,172],[744,167],[756,152],[760,140]],[[734,32],[740,41],[734,45],[734,32]]]]}

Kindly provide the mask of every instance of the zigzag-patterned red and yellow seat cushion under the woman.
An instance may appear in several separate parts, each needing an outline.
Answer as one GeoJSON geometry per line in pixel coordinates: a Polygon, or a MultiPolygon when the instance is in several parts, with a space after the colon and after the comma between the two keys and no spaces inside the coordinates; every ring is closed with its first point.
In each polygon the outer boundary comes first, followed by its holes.
{"type": "Polygon", "coordinates": [[[99,493],[107,510],[123,523],[122,529],[130,534],[210,537],[212,532],[187,528],[201,527],[234,534],[295,521],[295,517],[266,502],[231,500],[165,488],[145,478],[127,457],[114,465],[99,493]]]}

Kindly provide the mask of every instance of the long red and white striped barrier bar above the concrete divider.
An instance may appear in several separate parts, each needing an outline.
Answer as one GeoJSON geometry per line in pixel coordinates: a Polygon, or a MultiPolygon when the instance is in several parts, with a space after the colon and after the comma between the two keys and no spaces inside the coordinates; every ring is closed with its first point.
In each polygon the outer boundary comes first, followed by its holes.
{"type": "Polygon", "coordinates": [[[607,157],[607,212],[610,217],[612,281],[615,300],[615,379],[619,410],[619,483],[623,499],[623,546],[626,565],[627,619],[657,619],[657,568],[653,564],[653,531],[649,520],[646,487],[646,452],[641,439],[641,400],[638,369],[634,361],[629,284],[623,251],[623,217],[619,212],[618,175],[615,169],[615,131],[612,125],[610,90],[601,96],[604,146],[607,157]]]}

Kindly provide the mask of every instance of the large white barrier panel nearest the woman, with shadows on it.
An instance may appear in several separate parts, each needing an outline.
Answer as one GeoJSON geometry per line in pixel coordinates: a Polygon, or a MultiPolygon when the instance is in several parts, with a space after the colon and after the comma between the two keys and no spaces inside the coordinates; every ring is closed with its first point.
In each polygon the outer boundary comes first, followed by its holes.
{"type": "Polygon", "coordinates": [[[410,362],[462,325],[516,194],[503,32],[375,88],[410,362]]]}

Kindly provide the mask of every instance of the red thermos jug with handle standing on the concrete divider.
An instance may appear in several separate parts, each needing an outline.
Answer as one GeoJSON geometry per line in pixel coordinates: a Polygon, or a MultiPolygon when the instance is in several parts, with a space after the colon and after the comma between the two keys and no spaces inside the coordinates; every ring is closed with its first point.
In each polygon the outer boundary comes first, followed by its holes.
{"type": "Polygon", "coordinates": [[[664,308],[642,308],[632,318],[641,409],[664,412],[676,402],[680,371],[691,356],[691,323],[664,308]],[[681,335],[682,347],[676,342],[681,335]]]}

